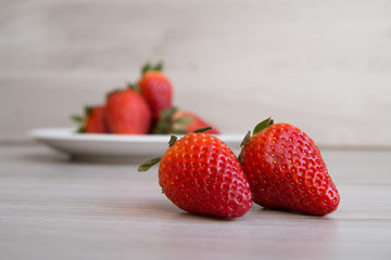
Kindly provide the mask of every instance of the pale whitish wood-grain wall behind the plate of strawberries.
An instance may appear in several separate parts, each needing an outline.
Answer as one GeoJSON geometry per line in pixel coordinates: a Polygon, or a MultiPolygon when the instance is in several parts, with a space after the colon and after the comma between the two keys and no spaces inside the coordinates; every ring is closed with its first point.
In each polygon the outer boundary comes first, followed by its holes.
{"type": "Polygon", "coordinates": [[[175,104],[224,132],[273,116],[326,145],[391,145],[389,0],[0,0],[0,141],[163,60],[175,104]]]}

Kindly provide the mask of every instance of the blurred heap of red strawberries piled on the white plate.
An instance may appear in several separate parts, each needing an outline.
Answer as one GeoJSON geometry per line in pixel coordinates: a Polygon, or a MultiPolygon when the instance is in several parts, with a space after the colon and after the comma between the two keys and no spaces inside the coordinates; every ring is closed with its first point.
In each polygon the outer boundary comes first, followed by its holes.
{"type": "Polygon", "coordinates": [[[73,116],[79,132],[188,133],[211,126],[193,113],[173,107],[173,86],[162,69],[162,63],[144,65],[137,84],[112,91],[104,105],[87,107],[84,117],[73,116]]]}

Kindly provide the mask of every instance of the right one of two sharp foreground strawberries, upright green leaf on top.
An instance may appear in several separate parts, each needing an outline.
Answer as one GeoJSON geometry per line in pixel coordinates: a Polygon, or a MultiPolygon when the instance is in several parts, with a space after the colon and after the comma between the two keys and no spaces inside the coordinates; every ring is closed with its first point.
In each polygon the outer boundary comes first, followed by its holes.
{"type": "Polygon", "coordinates": [[[319,148],[299,128],[266,119],[242,142],[240,161],[254,203],[314,216],[335,211],[339,193],[319,148]]]}

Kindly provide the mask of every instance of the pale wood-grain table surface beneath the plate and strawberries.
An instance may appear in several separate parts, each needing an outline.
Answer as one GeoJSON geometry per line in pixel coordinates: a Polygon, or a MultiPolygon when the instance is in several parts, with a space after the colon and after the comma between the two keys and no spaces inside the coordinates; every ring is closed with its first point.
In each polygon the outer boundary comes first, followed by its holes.
{"type": "Polygon", "coordinates": [[[218,220],[176,208],[143,159],[71,161],[0,146],[0,259],[391,259],[391,151],[321,151],[341,195],[310,217],[254,205],[218,220]]]}

